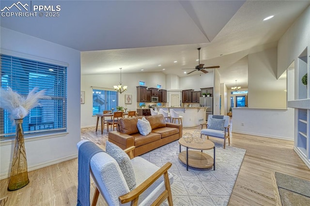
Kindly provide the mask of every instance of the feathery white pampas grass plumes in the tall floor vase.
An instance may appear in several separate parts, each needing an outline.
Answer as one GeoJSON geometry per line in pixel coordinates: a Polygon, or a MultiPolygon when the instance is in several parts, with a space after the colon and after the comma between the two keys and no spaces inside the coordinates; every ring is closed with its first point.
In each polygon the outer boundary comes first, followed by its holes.
{"type": "Polygon", "coordinates": [[[45,95],[45,89],[36,92],[37,90],[38,88],[33,88],[28,96],[24,97],[13,91],[12,88],[7,90],[1,88],[0,107],[11,113],[10,118],[12,120],[25,118],[33,107],[40,105],[40,99],[50,99],[49,96],[45,95]]]}

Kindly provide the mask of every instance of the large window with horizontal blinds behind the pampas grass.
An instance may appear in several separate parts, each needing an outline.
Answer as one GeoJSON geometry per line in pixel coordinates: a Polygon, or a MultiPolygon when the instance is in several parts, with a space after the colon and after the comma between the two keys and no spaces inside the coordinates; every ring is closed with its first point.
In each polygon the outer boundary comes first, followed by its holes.
{"type": "MultiPolygon", "coordinates": [[[[66,131],[67,67],[1,54],[1,88],[28,95],[33,88],[46,89],[50,100],[40,100],[24,118],[25,135],[66,131]]],[[[6,109],[0,110],[0,137],[15,135],[15,125],[6,109]]]]}

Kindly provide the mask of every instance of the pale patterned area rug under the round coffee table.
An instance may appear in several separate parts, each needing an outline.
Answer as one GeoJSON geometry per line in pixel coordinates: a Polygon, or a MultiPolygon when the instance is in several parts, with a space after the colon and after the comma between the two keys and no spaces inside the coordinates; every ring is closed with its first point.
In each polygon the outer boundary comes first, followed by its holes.
{"type": "MultiPolygon", "coordinates": [[[[234,183],[237,179],[246,149],[215,143],[216,170],[213,167],[199,169],[188,167],[178,159],[179,143],[154,149],[140,157],[161,167],[171,162],[169,172],[173,175],[171,192],[175,206],[226,206],[228,205],[234,183]]],[[[186,147],[181,147],[181,151],[186,147]]],[[[213,157],[213,149],[203,151],[213,157]]],[[[163,203],[164,206],[168,203],[163,203]]]]}

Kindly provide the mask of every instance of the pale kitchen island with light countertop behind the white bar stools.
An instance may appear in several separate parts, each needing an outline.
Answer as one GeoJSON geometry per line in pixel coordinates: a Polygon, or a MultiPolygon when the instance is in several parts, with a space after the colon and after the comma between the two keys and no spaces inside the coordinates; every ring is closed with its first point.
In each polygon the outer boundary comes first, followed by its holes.
{"type": "MultiPolygon", "coordinates": [[[[175,112],[179,113],[182,116],[183,127],[195,127],[206,122],[205,110],[208,108],[206,106],[201,107],[155,107],[157,111],[163,109],[170,113],[170,109],[173,109],[175,112]]],[[[169,114],[170,115],[170,114],[169,114]]],[[[178,122],[178,121],[176,121],[178,122]]]]}

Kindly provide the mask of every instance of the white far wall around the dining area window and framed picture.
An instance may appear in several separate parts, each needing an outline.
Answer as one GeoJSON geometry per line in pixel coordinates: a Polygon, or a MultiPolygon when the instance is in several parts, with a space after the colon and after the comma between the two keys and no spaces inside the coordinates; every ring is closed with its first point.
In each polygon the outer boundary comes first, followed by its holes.
{"type": "MultiPolygon", "coordinates": [[[[96,117],[93,116],[93,87],[113,88],[113,85],[118,85],[120,74],[96,74],[81,76],[81,90],[85,91],[85,104],[81,104],[81,127],[90,127],[96,124],[96,117]]],[[[146,87],[156,88],[156,85],[161,85],[166,89],[166,75],[162,72],[154,73],[122,73],[122,84],[128,86],[127,91],[118,94],[119,105],[126,106],[128,110],[137,109],[137,86],[139,81],[144,81],[146,87]],[[132,94],[132,103],[125,104],[125,94],[132,94]]],[[[148,103],[146,103],[148,105],[148,103]]]]}

